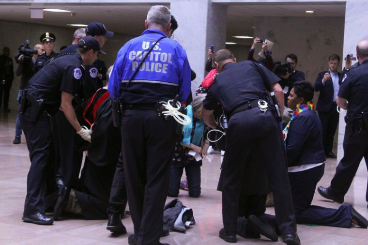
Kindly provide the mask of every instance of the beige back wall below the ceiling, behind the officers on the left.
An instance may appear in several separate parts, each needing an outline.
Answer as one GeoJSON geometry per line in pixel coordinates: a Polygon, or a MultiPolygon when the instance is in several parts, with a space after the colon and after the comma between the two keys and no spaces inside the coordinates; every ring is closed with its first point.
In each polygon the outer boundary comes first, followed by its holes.
{"type": "MultiPolygon", "coordinates": [[[[11,58],[14,62],[14,72],[16,70],[17,64],[14,60],[14,55],[18,52],[18,46],[24,44],[26,39],[31,41],[31,46],[40,42],[40,36],[46,31],[52,32],[56,36],[55,51],[59,51],[60,47],[63,45],[70,45],[73,39],[73,33],[76,29],[68,27],[56,27],[47,25],[38,25],[24,22],[15,21],[5,21],[0,20],[0,33],[3,33],[0,37],[0,49],[2,47],[8,46],[11,52],[11,58]]],[[[142,30],[143,31],[143,30],[142,30]]],[[[100,59],[105,61],[106,66],[109,67],[115,61],[116,54],[119,49],[126,43],[129,39],[134,36],[127,36],[119,33],[115,33],[114,37],[108,38],[104,51],[107,55],[100,55],[100,59]]],[[[10,91],[9,107],[10,109],[16,109],[17,102],[16,97],[18,95],[20,77],[15,77],[13,81],[13,86],[10,91]]]]}

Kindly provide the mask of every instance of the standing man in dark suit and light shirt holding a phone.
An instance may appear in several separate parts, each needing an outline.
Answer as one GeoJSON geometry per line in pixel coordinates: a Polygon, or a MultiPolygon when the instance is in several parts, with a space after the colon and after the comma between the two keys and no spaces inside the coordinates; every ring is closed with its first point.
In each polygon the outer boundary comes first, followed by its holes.
{"type": "Polygon", "coordinates": [[[322,122],[323,149],[326,157],[331,158],[337,158],[332,153],[332,147],[338,124],[336,98],[339,88],[338,79],[341,76],[337,72],[339,63],[340,57],[337,54],[330,55],[328,57],[328,70],[318,74],[314,84],[315,91],[320,92],[316,110],[322,122]]]}

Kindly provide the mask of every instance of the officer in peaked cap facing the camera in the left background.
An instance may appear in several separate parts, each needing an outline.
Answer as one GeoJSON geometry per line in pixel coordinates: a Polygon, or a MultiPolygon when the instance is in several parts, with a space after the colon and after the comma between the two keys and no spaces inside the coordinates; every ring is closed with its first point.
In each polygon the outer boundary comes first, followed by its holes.
{"type": "Polygon", "coordinates": [[[59,55],[59,53],[54,52],[54,45],[56,41],[56,36],[54,34],[52,34],[51,32],[45,32],[40,36],[40,41],[45,46],[45,53],[38,56],[36,65],[34,67],[34,72],[38,72],[39,70],[41,70],[47,61],[59,55]]]}

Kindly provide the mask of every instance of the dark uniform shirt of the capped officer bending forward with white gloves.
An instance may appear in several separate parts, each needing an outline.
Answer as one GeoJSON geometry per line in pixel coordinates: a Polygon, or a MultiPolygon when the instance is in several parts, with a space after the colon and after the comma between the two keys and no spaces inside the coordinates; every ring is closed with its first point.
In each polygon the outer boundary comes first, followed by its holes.
{"type": "Polygon", "coordinates": [[[48,63],[28,82],[28,93],[36,99],[44,99],[44,104],[59,108],[61,92],[75,95],[83,79],[82,58],[79,53],[65,55],[48,63]]]}

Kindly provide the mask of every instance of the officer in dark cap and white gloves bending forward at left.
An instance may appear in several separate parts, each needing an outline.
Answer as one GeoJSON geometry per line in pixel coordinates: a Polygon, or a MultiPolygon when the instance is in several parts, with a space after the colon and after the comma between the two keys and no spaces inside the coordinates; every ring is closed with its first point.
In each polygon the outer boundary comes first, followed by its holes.
{"type": "Polygon", "coordinates": [[[68,121],[84,139],[90,140],[90,131],[81,128],[72,106],[83,75],[83,64],[96,60],[100,46],[96,39],[84,37],[79,52],[51,61],[28,82],[19,104],[19,119],[30,151],[31,168],[27,176],[27,197],[23,221],[51,225],[53,219],[45,215],[46,169],[53,159],[51,150],[50,118],[61,107],[68,121]]]}

